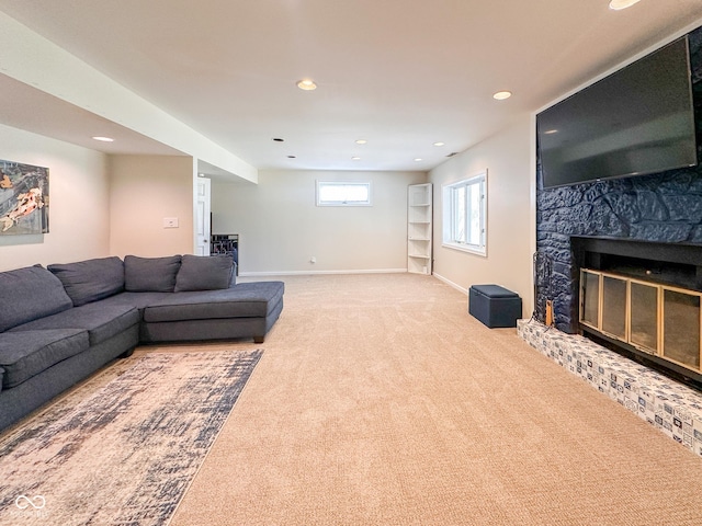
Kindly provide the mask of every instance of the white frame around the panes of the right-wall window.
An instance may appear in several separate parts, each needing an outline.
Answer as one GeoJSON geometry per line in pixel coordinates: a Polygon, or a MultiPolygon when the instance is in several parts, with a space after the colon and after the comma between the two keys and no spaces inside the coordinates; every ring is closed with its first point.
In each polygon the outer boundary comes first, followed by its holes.
{"type": "MultiPolygon", "coordinates": [[[[460,250],[463,252],[469,252],[482,256],[487,256],[487,169],[471,175],[469,178],[462,179],[452,183],[445,183],[442,185],[442,209],[443,209],[443,225],[442,225],[442,247],[460,250]],[[460,222],[458,211],[456,209],[456,192],[460,188],[467,188],[468,186],[478,185],[479,204],[478,204],[478,242],[469,243],[456,239],[457,222],[460,222]]],[[[465,231],[471,228],[471,214],[469,214],[469,199],[464,201],[464,225],[465,231]]]]}

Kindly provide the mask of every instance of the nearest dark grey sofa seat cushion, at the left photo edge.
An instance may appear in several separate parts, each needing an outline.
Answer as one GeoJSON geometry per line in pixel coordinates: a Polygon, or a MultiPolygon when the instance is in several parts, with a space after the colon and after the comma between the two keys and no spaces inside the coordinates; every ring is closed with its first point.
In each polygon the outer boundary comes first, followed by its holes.
{"type": "Polygon", "coordinates": [[[19,386],[89,346],[88,333],[80,329],[3,332],[0,334],[2,388],[19,386]]]}

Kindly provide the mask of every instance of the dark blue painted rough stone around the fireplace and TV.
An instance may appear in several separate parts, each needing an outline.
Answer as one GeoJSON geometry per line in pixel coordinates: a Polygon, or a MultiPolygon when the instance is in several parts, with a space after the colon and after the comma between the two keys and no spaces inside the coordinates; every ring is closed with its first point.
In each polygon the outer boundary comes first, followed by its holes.
{"type": "MultiPolygon", "coordinates": [[[[702,27],[689,34],[698,159],[702,160],[702,27]]],[[[702,245],[702,164],[625,179],[543,188],[536,170],[536,319],[552,299],[556,328],[578,331],[570,238],[601,237],[702,245]],[[550,272],[544,272],[548,266],[550,272]]]]}

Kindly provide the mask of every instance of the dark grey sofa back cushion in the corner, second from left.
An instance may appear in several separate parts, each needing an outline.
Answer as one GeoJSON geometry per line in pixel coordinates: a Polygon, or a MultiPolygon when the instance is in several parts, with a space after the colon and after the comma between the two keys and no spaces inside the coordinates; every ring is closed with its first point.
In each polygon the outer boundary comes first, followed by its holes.
{"type": "Polygon", "coordinates": [[[75,307],[124,290],[124,263],[116,256],[54,264],[48,270],[61,281],[75,307]]]}

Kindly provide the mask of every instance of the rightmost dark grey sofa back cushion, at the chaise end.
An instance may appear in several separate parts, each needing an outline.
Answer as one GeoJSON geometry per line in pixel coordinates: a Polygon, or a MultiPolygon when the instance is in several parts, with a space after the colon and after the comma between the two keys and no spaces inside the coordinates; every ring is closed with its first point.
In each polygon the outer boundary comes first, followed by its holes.
{"type": "Polygon", "coordinates": [[[178,276],[177,293],[185,290],[216,290],[229,288],[234,276],[231,255],[190,255],[182,256],[178,276]]]}

